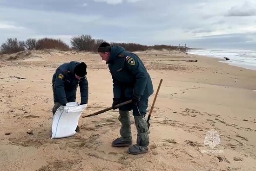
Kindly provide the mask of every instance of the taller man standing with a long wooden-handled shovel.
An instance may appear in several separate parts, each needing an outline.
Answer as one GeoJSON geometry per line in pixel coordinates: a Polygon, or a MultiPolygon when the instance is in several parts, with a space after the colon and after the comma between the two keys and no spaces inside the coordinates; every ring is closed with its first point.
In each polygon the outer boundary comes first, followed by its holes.
{"type": "MultiPolygon", "coordinates": [[[[145,115],[148,97],[153,94],[151,78],[141,59],[118,45],[110,46],[103,42],[98,48],[102,60],[106,61],[113,78],[113,108],[115,105],[132,99],[132,103],[119,108],[121,137],[112,142],[112,146],[132,145],[131,120],[129,111],[133,110],[138,131],[137,143],[128,149],[130,154],[148,152],[148,123],[145,115]]],[[[115,109],[115,108],[114,108],[115,109]]]]}

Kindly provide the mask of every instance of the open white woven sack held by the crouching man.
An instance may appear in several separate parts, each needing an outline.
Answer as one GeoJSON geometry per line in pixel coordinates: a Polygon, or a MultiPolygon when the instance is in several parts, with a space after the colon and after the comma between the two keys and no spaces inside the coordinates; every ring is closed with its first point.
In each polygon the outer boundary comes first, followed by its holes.
{"type": "Polygon", "coordinates": [[[77,102],[69,102],[66,106],[58,108],[53,118],[52,139],[73,136],[82,111],[86,107],[87,104],[79,105],[77,102]]]}

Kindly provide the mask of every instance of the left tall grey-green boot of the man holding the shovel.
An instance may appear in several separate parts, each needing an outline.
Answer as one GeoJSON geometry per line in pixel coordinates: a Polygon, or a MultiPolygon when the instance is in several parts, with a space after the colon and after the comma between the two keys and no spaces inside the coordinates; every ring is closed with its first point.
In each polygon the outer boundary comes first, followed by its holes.
{"type": "Polygon", "coordinates": [[[119,110],[118,120],[121,122],[121,137],[112,142],[112,146],[130,146],[132,145],[131,120],[129,111],[119,110]]]}

